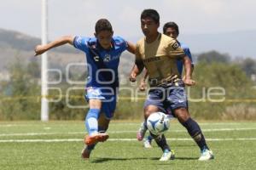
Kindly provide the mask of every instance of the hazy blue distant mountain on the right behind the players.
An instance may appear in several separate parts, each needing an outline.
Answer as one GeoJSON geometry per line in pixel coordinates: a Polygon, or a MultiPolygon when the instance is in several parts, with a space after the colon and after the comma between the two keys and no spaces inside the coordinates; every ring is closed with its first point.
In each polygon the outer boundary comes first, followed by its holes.
{"type": "MultiPolygon", "coordinates": [[[[130,37],[128,40],[137,42],[140,38],[130,37]]],[[[222,32],[218,34],[183,34],[181,31],[177,39],[187,44],[193,54],[215,50],[220,53],[230,54],[233,58],[250,57],[256,59],[256,30],[222,32]]]]}

